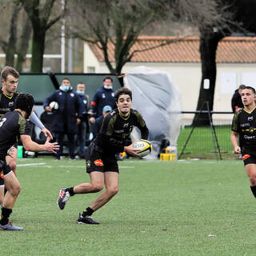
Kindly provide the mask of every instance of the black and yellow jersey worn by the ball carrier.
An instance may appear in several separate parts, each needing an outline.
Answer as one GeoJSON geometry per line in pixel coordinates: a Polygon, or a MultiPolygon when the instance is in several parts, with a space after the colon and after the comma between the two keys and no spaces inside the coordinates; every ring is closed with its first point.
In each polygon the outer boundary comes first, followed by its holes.
{"type": "Polygon", "coordinates": [[[118,109],[112,110],[103,118],[100,133],[94,138],[94,143],[104,154],[122,152],[126,138],[134,126],[141,131],[143,139],[148,138],[149,130],[146,127],[146,122],[137,110],[131,109],[126,118],[118,113],[118,109]]]}

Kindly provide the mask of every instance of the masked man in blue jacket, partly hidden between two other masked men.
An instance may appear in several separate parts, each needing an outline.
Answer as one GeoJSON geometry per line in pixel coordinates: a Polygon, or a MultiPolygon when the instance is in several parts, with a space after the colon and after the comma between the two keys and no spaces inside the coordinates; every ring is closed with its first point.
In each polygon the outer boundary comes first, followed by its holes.
{"type": "Polygon", "coordinates": [[[87,111],[89,109],[89,96],[85,94],[86,86],[83,82],[79,82],[77,85],[77,94],[82,107],[82,120],[78,124],[77,145],[78,145],[78,158],[85,158],[85,146],[86,146],[86,133],[89,128],[87,111]]]}

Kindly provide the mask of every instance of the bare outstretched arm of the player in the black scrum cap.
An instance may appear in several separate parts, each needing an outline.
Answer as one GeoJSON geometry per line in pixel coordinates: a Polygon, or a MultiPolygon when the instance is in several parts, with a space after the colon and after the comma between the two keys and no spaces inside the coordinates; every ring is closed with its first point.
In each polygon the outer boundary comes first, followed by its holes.
{"type": "Polygon", "coordinates": [[[50,143],[50,137],[46,138],[45,144],[38,144],[33,142],[30,135],[23,134],[21,135],[21,140],[24,148],[28,151],[40,152],[40,151],[49,151],[56,153],[55,150],[59,149],[58,142],[50,143]]]}

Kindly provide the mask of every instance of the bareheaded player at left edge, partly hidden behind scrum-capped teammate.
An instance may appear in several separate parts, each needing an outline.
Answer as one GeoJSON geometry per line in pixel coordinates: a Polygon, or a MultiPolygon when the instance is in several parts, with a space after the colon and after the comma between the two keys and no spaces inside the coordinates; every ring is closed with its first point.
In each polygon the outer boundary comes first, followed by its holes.
{"type": "MultiPolygon", "coordinates": [[[[6,114],[8,111],[14,110],[14,101],[15,98],[20,94],[17,92],[18,87],[18,72],[11,66],[6,66],[3,68],[1,72],[1,83],[2,88],[0,89],[0,117],[6,114]]],[[[36,126],[42,129],[42,132],[46,135],[46,137],[50,137],[52,139],[52,135],[50,131],[43,126],[42,122],[38,119],[37,115],[34,112],[31,114],[30,121],[33,122],[36,126]]],[[[14,174],[16,174],[16,162],[17,162],[17,145],[12,146],[8,151],[8,155],[6,156],[6,162],[13,170],[14,174]]],[[[2,198],[4,194],[4,184],[2,173],[0,170],[0,204],[2,203],[2,198]]]]}

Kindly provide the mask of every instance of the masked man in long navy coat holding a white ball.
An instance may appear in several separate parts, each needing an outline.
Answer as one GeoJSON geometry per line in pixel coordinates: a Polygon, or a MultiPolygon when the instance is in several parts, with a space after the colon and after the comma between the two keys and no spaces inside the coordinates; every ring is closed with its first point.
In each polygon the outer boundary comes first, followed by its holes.
{"type": "Polygon", "coordinates": [[[70,160],[74,160],[74,135],[77,134],[78,124],[81,122],[82,107],[78,94],[74,92],[73,88],[70,86],[69,78],[63,78],[59,90],[55,90],[53,94],[45,99],[43,106],[46,111],[52,111],[49,106],[50,102],[58,102],[58,110],[54,111],[52,125],[52,131],[60,146],[55,158],[56,160],[60,160],[63,150],[63,138],[66,134],[68,138],[70,160]]]}

